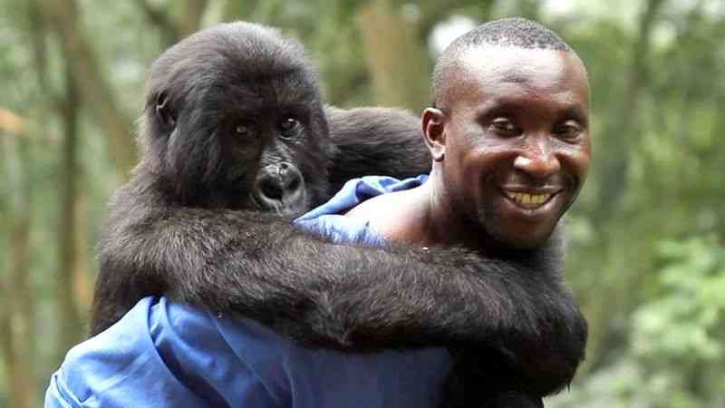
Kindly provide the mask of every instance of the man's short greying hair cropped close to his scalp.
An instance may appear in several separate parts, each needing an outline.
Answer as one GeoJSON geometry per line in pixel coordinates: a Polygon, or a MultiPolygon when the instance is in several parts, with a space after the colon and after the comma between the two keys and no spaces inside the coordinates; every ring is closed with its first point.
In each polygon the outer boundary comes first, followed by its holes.
{"type": "Polygon", "coordinates": [[[460,58],[469,48],[480,45],[496,45],[501,47],[517,47],[525,49],[544,49],[556,51],[573,51],[569,44],[544,25],[522,17],[504,18],[478,25],[468,33],[459,36],[440,54],[433,70],[432,96],[433,106],[440,101],[442,95],[440,85],[450,68],[459,64],[460,58]]]}

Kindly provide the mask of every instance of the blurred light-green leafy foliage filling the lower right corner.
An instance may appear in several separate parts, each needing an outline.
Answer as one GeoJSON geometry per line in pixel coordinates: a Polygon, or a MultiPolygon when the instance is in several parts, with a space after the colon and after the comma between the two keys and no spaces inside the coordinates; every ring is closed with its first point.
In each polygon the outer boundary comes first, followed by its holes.
{"type": "Polygon", "coordinates": [[[633,312],[630,346],[551,406],[722,407],[725,246],[715,237],[656,246],[656,279],[633,312]]]}

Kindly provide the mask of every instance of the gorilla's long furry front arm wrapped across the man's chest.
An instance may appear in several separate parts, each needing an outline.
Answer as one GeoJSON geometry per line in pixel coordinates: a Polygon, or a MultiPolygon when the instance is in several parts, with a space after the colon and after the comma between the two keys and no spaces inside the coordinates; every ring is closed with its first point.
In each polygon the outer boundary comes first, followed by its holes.
{"type": "Polygon", "coordinates": [[[306,345],[488,345],[542,392],[567,384],[583,357],[585,321],[553,248],[504,262],[457,248],[333,245],[275,215],[175,208],[157,190],[132,181],[111,208],[93,333],[141,296],[167,294],[306,345]]]}

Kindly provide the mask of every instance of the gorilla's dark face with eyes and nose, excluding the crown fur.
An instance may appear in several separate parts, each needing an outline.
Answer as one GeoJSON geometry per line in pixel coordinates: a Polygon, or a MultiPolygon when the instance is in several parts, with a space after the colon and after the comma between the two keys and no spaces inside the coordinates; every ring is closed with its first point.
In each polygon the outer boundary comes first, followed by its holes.
{"type": "Polygon", "coordinates": [[[230,83],[209,103],[218,112],[224,165],[215,190],[227,199],[225,207],[297,215],[326,194],[321,106],[316,92],[297,92],[290,79],[259,78],[254,88],[230,83]]]}

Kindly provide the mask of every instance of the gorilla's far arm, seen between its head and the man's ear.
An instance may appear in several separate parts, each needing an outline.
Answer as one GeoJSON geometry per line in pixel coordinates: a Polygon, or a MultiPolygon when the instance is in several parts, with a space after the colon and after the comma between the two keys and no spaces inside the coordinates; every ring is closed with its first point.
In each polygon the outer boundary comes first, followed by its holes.
{"type": "Polygon", "coordinates": [[[393,108],[324,108],[336,148],[330,168],[332,191],[365,175],[407,179],[430,172],[430,152],[420,118],[393,108]]]}

